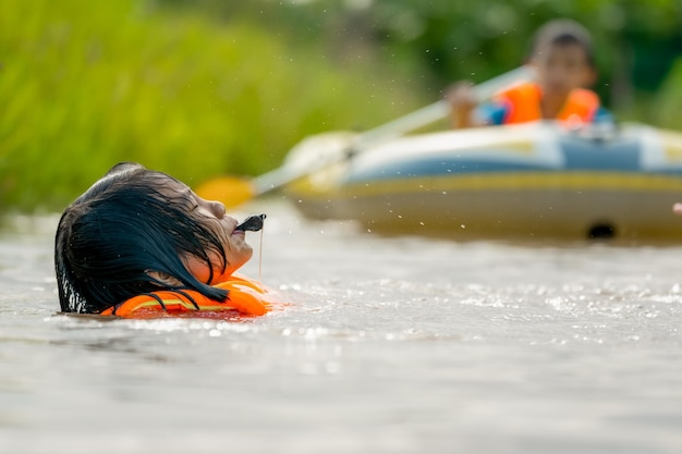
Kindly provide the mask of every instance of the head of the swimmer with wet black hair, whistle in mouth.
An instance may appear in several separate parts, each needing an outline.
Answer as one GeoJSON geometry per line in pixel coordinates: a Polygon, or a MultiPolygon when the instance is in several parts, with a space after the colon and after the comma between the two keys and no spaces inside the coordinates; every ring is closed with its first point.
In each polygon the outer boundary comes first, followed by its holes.
{"type": "Polygon", "coordinates": [[[98,314],[158,290],[190,289],[224,300],[209,284],[251,258],[244,232],[178,180],[136,163],[113,167],[69,206],[57,228],[61,310],[98,314]]]}

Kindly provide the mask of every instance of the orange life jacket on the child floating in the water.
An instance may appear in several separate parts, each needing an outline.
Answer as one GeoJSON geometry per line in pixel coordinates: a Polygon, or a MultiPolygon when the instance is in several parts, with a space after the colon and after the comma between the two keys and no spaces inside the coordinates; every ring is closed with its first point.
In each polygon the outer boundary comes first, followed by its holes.
{"type": "Polygon", "coordinates": [[[134,296],[122,304],[105,309],[102,316],[123,318],[158,318],[184,316],[203,318],[230,318],[238,315],[263,316],[271,305],[278,304],[265,287],[238,275],[214,284],[229,292],[228,299],[217,302],[193,290],[159,291],[134,296]]]}

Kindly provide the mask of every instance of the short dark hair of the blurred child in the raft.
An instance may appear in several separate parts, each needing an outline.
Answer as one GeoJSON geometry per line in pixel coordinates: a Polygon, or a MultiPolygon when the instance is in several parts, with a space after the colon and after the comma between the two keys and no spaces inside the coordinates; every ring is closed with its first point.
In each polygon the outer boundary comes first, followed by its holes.
{"type": "Polygon", "coordinates": [[[550,21],[535,33],[528,60],[543,47],[569,45],[580,46],[585,52],[587,63],[593,69],[596,66],[592,35],[587,28],[569,19],[550,21]]]}

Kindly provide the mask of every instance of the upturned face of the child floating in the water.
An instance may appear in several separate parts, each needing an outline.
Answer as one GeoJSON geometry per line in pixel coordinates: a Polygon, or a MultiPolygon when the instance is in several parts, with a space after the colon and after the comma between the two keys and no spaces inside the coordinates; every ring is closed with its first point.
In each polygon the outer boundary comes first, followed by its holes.
{"type": "Polygon", "coordinates": [[[230,275],[241,266],[246,263],[253,256],[252,247],[246,243],[245,234],[242,231],[235,231],[239,224],[236,219],[226,216],[224,205],[220,201],[205,200],[194,194],[186,185],[173,181],[170,189],[175,189],[184,194],[190,200],[187,206],[188,214],[198,220],[220,238],[224,255],[228,259],[226,271],[220,273],[220,257],[212,253],[210,257],[214,263],[214,279],[209,282],[210,270],[206,262],[199,258],[187,255],[183,257],[183,261],[187,270],[200,282],[211,284],[218,282],[220,275],[230,275]]]}

